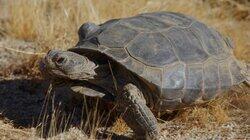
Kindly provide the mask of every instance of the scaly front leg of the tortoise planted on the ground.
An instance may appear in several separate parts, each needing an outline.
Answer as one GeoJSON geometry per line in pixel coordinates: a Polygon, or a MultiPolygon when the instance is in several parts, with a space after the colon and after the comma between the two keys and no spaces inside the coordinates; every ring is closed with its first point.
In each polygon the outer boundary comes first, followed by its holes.
{"type": "Polygon", "coordinates": [[[123,112],[123,120],[138,139],[157,138],[157,120],[136,86],[132,84],[124,86],[123,92],[117,98],[117,104],[118,110],[123,112]]]}

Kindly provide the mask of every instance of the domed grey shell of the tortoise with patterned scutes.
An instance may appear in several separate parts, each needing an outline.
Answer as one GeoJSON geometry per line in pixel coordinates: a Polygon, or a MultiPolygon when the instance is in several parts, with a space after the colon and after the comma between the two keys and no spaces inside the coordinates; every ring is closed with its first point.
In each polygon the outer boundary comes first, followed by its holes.
{"type": "Polygon", "coordinates": [[[77,47],[113,58],[156,85],[162,99],[207,100],[245,80],[230,41],[192,17],[146,13],[110,20],[100,28],[98,46],[77,47]]]}

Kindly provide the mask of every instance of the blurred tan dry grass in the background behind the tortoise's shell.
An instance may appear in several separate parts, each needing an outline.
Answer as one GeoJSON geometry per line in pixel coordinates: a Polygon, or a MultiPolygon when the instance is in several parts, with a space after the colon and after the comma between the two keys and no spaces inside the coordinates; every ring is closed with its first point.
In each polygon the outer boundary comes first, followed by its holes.
{"type": "Polygon", "coordinates": [[[230,36],[237,57],[249,61],[250,7],[237,0],[20,0],[5,1],[8,21],[4,30],[19,39],[35,41],[45,50],[66,49],[77,41],[77,29],[86,22],[102,23],[112,18],[152,11],[191,15],[230,36]],[[112,9],[112,10],[110,10],[112,9]]]}

